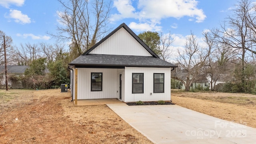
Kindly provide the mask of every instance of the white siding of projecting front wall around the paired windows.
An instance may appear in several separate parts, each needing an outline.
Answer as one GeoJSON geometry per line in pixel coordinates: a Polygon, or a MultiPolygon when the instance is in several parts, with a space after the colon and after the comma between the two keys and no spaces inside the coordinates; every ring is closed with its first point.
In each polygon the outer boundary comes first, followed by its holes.
{"type": "Polygon", "coordinates": [[[125,68],[124,102],[138,101],[170,101],[171,100],[171,68],[125,68]],[[132,73],[144,73],[144,93],[132,94],[132,73]],[[154,93],[154,73],[164,73],[164,93],[154,93]],[[152,95],[150,95],[152,93],[152,95]]]}

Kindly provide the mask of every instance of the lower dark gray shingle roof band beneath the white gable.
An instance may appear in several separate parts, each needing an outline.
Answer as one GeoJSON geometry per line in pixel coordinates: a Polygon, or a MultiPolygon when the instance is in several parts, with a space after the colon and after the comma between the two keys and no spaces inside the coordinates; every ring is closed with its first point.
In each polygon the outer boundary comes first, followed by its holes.
{"type": "Polygon", "coordinates": [[[153,56],[120,56],[104,54],[87,54],[79,56],[70,65],[81,68],[124,68],[128,67],[156,67],[174,68],[174,64],[153,56]]]}

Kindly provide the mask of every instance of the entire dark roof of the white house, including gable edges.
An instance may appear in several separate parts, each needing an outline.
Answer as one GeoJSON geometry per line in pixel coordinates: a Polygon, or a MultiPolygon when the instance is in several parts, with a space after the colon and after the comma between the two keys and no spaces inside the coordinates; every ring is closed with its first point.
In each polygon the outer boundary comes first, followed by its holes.
{"type": "Polygon", "coordinates": [[[174,64],[160,59],[126,24],[121,24],[105,38],[100,40],[84,54],[69,63],[77,68],[124,68],[129,67],[162,67],[175,68],[174,64]],[[137,42],[139,42],[152,56],[126,56],[126,55],[107,55],[107,54],[90,54],[97,46],[107,40],[120,28],[124,28],[137,42]]]}

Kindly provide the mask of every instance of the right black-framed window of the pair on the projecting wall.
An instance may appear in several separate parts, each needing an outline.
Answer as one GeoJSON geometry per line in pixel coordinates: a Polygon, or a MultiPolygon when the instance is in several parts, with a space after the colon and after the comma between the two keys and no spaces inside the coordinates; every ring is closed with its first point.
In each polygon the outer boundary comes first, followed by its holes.
{"type": "Polygon", "coordinates": [[[154,93],[164,92],[164,74],[154,73],[154,93]]]}

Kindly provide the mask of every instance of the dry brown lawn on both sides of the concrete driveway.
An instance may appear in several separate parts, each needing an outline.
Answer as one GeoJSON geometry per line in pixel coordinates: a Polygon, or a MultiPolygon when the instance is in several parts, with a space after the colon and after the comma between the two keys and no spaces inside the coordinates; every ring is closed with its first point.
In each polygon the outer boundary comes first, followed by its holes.
{"type": "MultiPolygon", "coordinates": [[[[172,102],[217,118],[256,128],[256,96],[175,92],[172,102]]],[[[106,105],[74,106],[60,90],[0,90],[3,144],[149,144],[146,137],[106,105]]]]}

